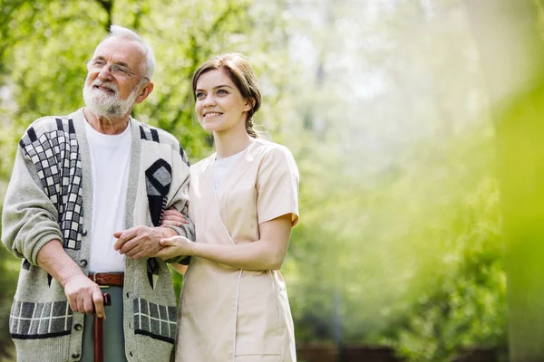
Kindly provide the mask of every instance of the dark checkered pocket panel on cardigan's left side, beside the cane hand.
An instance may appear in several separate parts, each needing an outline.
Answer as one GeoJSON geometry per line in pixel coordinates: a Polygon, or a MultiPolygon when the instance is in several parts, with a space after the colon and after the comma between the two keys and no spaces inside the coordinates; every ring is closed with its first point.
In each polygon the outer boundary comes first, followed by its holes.
{"type": "Polygon", "coordinates": [[[38,339],[70,334],[73,311],[66,300],[33,303],[15,300],[9,319],[13,338],[38,339]]]}

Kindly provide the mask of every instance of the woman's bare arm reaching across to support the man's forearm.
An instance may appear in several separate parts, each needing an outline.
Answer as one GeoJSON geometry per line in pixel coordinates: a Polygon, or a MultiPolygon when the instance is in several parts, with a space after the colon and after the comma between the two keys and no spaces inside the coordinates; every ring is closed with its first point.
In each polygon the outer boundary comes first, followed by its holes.
{"type": "Polygon", "coordinates": [[[291,235],[291,214],[284,214],[259,224],[260,239],[256,242],[238,241],[235,245],[192,243],[182,236],[163,239],[165,246],[154,256],[171,258],[194,255],[237,269],[254,271],[277,270],[281,267],[291,235]]]}

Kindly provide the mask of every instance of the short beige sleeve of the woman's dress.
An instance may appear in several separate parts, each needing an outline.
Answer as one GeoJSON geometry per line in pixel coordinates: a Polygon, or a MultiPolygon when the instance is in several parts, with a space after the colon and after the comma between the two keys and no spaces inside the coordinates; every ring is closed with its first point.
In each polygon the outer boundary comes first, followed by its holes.
{"type": "Polygon", "coordinates": [[[295,158],[285,147],[267,150],[257,175],[258,224],[291,214],[291,225],[298,223],[298,169],[295,158]]]}

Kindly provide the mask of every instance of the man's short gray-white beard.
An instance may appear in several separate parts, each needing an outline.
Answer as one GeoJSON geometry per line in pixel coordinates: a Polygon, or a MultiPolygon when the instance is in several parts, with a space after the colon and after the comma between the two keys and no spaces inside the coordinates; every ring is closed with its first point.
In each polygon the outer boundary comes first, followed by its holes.
{"type": "Polygon", "coordinates": [[[132,90],[126,100],[120,100],[117,90],[114,96],[110,96],[103,93],[102,90],[96,90],[85,84],[83,86],[83,100],[87,108],[98,117],[120,118],[131,111],[138,97],[139,88],[136,87],[132,90]]]}

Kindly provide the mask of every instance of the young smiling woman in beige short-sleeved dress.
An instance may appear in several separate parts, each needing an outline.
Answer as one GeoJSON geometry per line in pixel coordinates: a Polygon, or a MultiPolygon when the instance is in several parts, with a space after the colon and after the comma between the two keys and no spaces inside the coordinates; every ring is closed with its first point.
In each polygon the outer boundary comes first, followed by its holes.
{"type": "Polygon", "coordinates": [[[196,243],[164,239],[157,254],[192,256],[180,297],[176,361],[296,361],[278,271],[298,221],[295,160],[287,148],[257,138],[252,118],[261,95],[244,57],[225,53],[205,62],[192,90],[216,153],[191,167],[196,243]]]}

